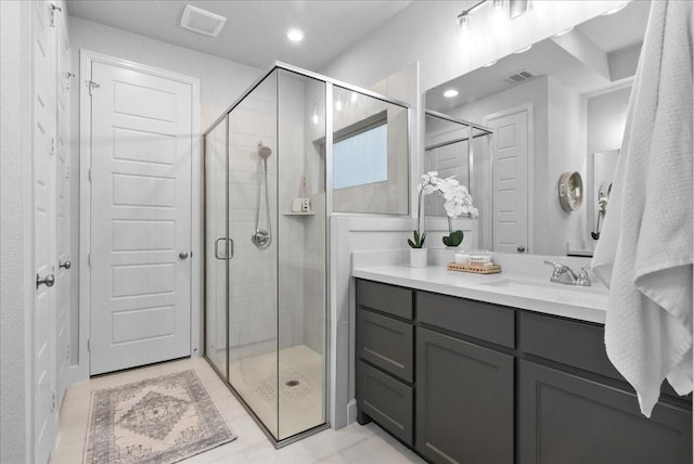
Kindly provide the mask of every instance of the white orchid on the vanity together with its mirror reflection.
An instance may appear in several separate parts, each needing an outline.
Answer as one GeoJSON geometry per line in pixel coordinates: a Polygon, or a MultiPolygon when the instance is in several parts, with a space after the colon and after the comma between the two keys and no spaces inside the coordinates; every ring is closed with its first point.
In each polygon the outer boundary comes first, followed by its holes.
{"type": "Polygon", "coordinates": [[[422,248],[424,246],[424,239],[426,233],[422,232],[422,225],[424,217],[422,216],[422,201],[424,195],[438,192],[444,196],[446,201],[444,208],[446,208],[446,216],[448,217],[448,232],[449,234],[444,237],[444,245],[458,246],[463,242],[464,233],[462,230],[453,231],[452,220],[460,215],[467,215],[471,218],[476,218],[478,215],[477,208],[473,206],[473,197],[470,195],[467,188],[461,185],[455,176],[441,179],[438,177],[437,171],[429,171],[422,176],[422,181],[417,185],[420,192],[417,208],[416,208],[416,229],[413,231],[414,241],[408,239],[408,243],[412,248],[422,248]]]}

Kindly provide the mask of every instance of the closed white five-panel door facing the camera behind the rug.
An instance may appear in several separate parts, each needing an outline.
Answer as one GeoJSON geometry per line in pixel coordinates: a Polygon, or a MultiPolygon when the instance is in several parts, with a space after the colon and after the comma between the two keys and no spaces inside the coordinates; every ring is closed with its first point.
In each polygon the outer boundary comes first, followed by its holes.
{"type": "Polygon", "coordinates": [[[191,85],[93,62],[91,374],[191,353],[191,85]]]}

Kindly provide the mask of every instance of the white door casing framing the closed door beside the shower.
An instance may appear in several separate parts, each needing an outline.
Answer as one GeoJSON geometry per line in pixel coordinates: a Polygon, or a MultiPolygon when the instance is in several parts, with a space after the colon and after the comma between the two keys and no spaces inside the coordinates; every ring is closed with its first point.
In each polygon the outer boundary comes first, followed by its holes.
{"type": "Polygon", "coordinates": [[[91,272],[89,254],[91,244],[91,100],[89,86],[92,63],[103,63],[162,77],[191,86],[191,356],[202,356],[202,197],[201,197],[201,143],[200,132],[200,79],[182,74],[121,60],[89,50],[79,50],[79,362],[77,378],[86,381],[90,375],[88,339],[91,327],[91,272]]]}

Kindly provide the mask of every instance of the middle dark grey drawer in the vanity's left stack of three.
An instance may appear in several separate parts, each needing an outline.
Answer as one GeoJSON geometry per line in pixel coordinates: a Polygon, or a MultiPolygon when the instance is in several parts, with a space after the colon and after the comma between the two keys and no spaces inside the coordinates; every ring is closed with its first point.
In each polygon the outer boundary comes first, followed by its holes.
{"type": "Polygon", "coordinates": [[[359,358],[411,383],[414,378],[413,347],[411,324],[364,309],[357,311],[359,358]]]}

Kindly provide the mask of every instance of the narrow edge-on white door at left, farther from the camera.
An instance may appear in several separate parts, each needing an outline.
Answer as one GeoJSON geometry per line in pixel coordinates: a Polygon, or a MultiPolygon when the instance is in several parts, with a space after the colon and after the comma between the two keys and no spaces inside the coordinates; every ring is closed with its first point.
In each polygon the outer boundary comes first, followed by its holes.
{"type": "Polygon", "coordinates": [[[69,385],[69,314],[72,307],[72,254],[70,254],[70,133],[69,133],[69,88],[72,83],[70,49],[65,25],[65,13],[56,14],[57,24],[57,263],[55,273],[56,314],[55,314],[55,366],[56,366],[56,404],[69,385]]]}

